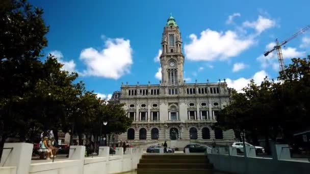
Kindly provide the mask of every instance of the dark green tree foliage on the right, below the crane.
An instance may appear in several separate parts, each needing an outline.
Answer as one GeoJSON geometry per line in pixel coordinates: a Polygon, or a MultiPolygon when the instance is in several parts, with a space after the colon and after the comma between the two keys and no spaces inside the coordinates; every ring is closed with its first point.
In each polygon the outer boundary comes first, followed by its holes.
{"type": "Polygon", "coordinates": [[[280,133],[290,140],[294,131],[306,128],[310,121],[310,56],[292,59],[277,82],[266,77],[256,85],[251,80],[243,93],[231,97],[233,101],[218,116],[220,127],[258,132],[274,140],[280,133]]]}

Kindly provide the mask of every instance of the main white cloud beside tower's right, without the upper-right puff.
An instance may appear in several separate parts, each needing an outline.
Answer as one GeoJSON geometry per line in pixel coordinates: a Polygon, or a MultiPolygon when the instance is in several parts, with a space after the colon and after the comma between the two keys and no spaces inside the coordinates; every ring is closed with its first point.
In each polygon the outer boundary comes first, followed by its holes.
{"type": "Polygon", "coordinates": [[[237,56],[253,45],[253,38],[243,38],[236,32],[217,32],[207,29],[200,33],[190,35],[191,42],[184,46],[186,56],[191,61],[226,60],[237,56]]]}

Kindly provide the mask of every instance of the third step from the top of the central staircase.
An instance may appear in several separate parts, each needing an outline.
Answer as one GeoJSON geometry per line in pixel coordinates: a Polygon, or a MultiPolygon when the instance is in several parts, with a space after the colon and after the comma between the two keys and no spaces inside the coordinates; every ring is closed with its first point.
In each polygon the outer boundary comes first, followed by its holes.
{"type": "Polygon", "coordinates": [[[143,163],[138,164],[137,169],[212,169],[213,165],[210,163],[166,163],[166,164],[156,164],[156,163],[143,163]]]}

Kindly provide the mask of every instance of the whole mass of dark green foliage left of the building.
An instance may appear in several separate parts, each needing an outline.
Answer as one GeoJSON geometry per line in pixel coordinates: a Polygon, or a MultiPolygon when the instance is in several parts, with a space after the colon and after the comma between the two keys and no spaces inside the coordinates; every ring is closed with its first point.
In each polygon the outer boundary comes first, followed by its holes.
{"type": "Polygon", "coordinates": [[[56,57],[41,62],[48,32],[42,14],[25,0],[0,4],[0,154],[7,137],[32,141],[51,129],[98,135],[102,121],[106,133],[120,133],[132,123],[122,105],[75,83],[77,73],[63,71],[56,57]]]}

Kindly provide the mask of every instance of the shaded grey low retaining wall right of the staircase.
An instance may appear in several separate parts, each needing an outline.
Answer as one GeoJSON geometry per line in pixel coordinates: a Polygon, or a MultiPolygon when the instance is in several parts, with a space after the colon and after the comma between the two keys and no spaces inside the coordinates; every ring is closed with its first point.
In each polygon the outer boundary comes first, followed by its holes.
{"type": "Polygon", "coordinates": [[[247,174],[307,174],[310,172],[310,163],[307,161],[297,161],[290,159],[288,146],[275,146],[273,158],[254,157],[255,155],[237,156],[230,148],[229,154],[208,154],[214,169],[230,173],[247,174]]]}

